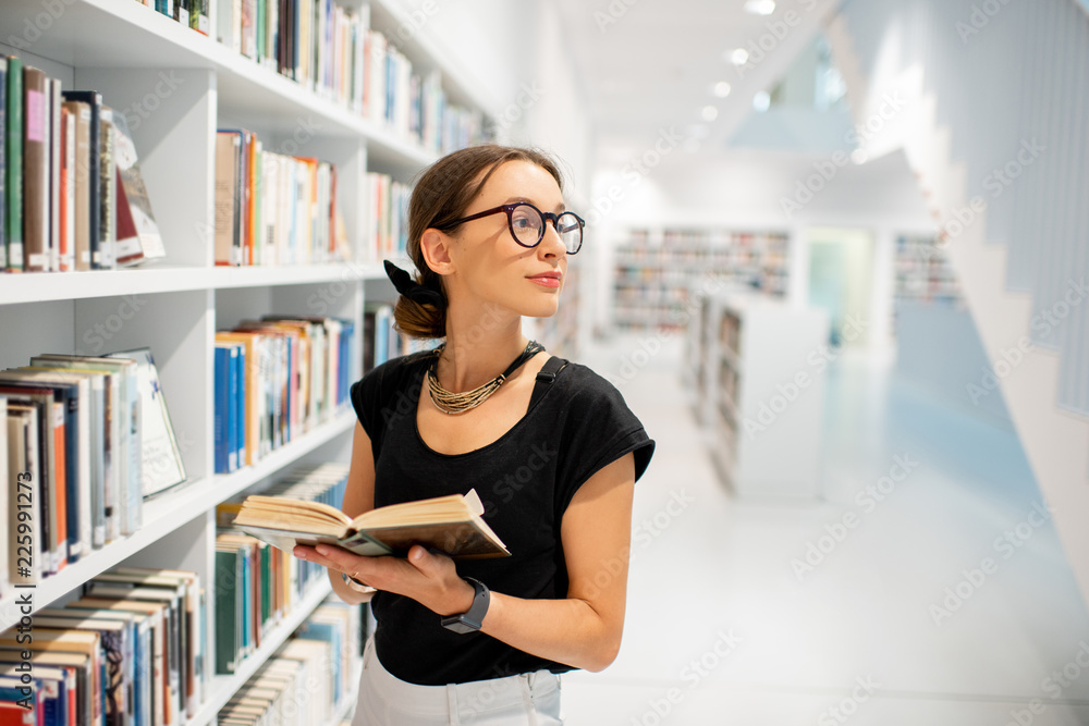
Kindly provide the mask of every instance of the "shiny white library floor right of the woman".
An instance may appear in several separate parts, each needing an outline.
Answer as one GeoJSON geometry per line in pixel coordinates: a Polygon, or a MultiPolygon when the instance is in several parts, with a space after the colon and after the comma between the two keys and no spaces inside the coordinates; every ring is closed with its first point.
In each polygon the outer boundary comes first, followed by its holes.
{"type": "MultiPolygon", "coordinates": [[[[619,371],[637,340],[583,361],[619,371]]],[[[1089,613],[1032,514],[1013,433],[843,364],[825,402],[825,501],[738,503],[678,365],[666,346],[622,386],[658,448],[636,485],[624,644],[607,670],[564,676],[570,726],[1089,724],[1089,613]],[[856,493],[894,456],[918,465],[864,508],[856,493]],[[858,526],[799,578],[792,561],[844,513],[858,526]],[[1007,530],[1018,546],[996,542],[1007,530]]]]}

